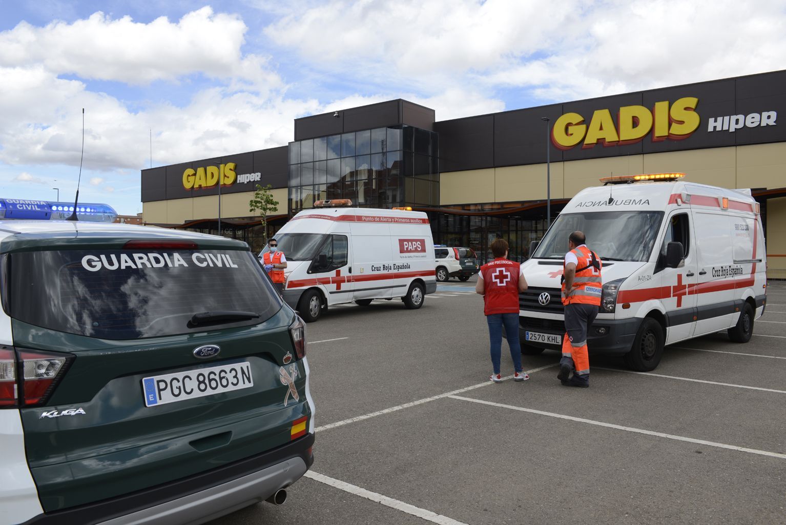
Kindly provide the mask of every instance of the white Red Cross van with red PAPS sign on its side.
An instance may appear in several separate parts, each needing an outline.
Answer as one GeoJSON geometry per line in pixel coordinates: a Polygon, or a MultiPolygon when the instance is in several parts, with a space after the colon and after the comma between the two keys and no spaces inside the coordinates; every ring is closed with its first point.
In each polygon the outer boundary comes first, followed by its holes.
{"type": "Polygon", "coordinates": [[[368,306],[373,299],[400,297],[407,308],[417,309],[436,291],[426,214],[350,205],[350,200],[317,201],[315,209],[299,212],[274,236],[287,259],[284,300],[304,321],[352,301],[368,306]]]}

